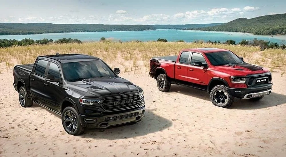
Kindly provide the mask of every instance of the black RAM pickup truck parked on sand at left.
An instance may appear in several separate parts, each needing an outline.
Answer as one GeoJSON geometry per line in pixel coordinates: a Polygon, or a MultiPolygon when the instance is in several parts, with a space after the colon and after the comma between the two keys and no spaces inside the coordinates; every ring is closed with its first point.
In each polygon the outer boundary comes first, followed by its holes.
{"type": "Polygon", "coordinates": [[[144,117],[142,88],[119,73],[97,57],[57,53],[16,65],[13,86],[22,107],[36,102],[59,114],[65,131],[76,136],[84,128],[134,124],[144,117]]]}

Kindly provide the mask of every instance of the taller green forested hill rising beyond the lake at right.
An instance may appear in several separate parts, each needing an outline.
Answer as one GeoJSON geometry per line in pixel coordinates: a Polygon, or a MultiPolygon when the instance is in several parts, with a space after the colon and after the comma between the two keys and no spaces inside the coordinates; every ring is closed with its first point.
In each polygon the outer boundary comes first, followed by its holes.
{"type": "Polygon", "coordinates": [[[217,26],[189,28],[189,30],[244,32],[253,33],[254,35],[286,35],[286,14],[265,15],[252,19],[239,18],[217,26]]]}

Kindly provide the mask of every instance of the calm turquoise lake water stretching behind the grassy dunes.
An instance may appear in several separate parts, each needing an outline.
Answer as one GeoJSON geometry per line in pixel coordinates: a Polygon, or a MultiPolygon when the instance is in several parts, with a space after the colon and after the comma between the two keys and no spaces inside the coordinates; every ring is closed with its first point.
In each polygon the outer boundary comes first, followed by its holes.
{"type": "Polygon", "coordinates": [[[286,36],[261,36],[249,33],[236,32],[212,32],[212,31],[192,31],[192,30],[157,30],[157,31],[120,31],[120,32],[80,32],[80,33],[49,33],[39,35],[0,35],[0,39],[17,39],[31,38],[53,39],[53,41],[62,38],[80,39],[81,41],[98,41],[101,37],[121,40],[121,41],[157,41],[158,38],[167,39],[168,41],[184,40],[192,42],[196,40],[203,41],[220,41],[225,42],[232,39],[239,43],[242,39],[253,40],[254,38],[268,40],[278,44],[286,44],[286,36]]]}

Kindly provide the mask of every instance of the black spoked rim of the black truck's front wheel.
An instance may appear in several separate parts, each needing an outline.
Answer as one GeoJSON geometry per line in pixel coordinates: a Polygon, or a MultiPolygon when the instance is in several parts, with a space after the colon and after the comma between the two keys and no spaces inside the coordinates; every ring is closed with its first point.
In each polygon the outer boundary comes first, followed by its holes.
{"type": "Polygon", "coordinates": [[[65,111],[63,114],[63,124],[68,132],[76,132],[78,129],[78,119],[76,118],[76,114],[71,110],[65,111]]]}

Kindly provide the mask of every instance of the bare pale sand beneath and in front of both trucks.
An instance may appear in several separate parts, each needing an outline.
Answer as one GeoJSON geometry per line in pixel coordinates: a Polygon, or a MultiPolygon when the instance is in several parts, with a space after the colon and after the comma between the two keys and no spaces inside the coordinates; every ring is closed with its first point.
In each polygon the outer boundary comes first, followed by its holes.
{"type": "Polygon", "coordinates": [[[220,108],[200,90],[172,85],[164,93],[148,73],[121,73],[144,89],[144,119],[72,136],[49,110],[35,103],[21,107],[12,85],[13,71],[4,71],[0,74],[0,156],[284,157],[286,77],[280,75],[273,73],[273,92],[260,102],[237,99],[230,108],[220,108]]]}

